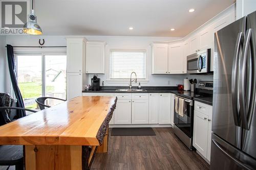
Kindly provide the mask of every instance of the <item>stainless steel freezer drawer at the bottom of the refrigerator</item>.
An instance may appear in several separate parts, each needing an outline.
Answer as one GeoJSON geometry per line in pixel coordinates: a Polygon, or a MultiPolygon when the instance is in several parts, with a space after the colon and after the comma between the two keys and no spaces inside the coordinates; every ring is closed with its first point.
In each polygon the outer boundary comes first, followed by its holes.
{"type": "Polygon", "coordinates": [[[255,169],[256,160],[232,147],[214,133],[211,135],[211,170],[255,169]]]}

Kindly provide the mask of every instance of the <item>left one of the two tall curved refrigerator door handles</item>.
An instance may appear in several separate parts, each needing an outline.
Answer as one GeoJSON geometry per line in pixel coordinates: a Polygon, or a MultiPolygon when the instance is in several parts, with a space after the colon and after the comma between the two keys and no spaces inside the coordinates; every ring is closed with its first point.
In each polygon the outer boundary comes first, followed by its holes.
{"type": "Polygon", "coordinates": [[[238,33],[236,47],[234,51],[234,60],[232,65],[232,78],[231,78],[231,94],[232,94],[232,106],[233,106],[233,117],[234,125],[240,126],[240,115],[239,115],[239,101],[238,101],[238,64],[241,46],[243,45],[243,32],[238,33]]]}

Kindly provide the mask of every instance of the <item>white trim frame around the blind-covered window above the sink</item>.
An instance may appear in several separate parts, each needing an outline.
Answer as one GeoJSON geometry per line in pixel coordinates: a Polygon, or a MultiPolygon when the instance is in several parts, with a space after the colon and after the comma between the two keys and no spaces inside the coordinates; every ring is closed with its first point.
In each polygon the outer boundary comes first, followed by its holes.
{"type": "MultiPolygon", "coordinates": [[[[149,72],[149,51],[150,51],[150,47],[148,48],[108,48],[106,47],[106,62],[105,62],[105,68],[106,68],[106,83],[108,83],[109,85],[111,84],[123,84],[123,85],[127,85],[127,82],[130,81],[130,77],[127,79],[111,79],[110,78],[110,55],[111,55],[111,51],[143,51],[145,52],[145,69],[146,69],[146,77],[145,79],[138,79],[137,82],[141,83],[141,84],[147,84],[148,83],[148,72],[149,72]]],[[[134,78],[134,75],[133,75],[134,78]]]]}

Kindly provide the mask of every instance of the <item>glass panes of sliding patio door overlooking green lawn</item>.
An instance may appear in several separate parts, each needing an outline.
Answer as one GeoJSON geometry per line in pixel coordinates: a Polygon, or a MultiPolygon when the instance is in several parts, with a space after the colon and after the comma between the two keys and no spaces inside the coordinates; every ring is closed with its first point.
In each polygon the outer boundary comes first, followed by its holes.
{"type": "MultiPolygon", "coordinates": [[[[25,108],[38,109],[35,99],[51,96],[66,100],[66,54],[16,54],[17,79],[25,108]]],[[[55,100],[46,104],[56,105],[55,100]]]]}

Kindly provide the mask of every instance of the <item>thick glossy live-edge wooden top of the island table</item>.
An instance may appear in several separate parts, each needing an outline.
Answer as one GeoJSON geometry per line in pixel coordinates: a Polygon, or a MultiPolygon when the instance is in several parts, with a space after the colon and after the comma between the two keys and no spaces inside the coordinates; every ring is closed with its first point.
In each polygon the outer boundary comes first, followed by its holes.
{"type": "Polygon", "coordinates": [[[100,145],[115,103],[109,96],[79,96],[1,126],[0,145],[100,145]]]}

